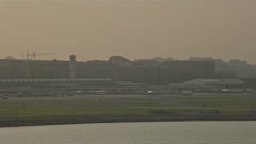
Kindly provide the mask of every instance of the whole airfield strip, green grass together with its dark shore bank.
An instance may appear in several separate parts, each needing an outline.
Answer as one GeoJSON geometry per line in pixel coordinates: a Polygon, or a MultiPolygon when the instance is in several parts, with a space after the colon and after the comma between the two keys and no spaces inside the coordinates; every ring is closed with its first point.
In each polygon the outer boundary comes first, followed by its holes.
{"type": "Polygon", "coordinates": [[[79,95],[0,100],[0,126],[254,121],[254,94],[79,95]]]}

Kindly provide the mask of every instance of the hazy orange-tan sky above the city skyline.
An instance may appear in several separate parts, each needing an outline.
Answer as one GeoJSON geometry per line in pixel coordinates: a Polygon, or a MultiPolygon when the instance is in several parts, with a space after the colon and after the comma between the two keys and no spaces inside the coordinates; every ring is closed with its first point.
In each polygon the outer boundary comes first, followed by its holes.
{"type": "MultiPolygon", "coordinates": [[[[1,0],[0,0],[1,1],[1,0]]],[[[256,0],[2,0],[0,58],[191,56],[256,64],[256,0]]]]}

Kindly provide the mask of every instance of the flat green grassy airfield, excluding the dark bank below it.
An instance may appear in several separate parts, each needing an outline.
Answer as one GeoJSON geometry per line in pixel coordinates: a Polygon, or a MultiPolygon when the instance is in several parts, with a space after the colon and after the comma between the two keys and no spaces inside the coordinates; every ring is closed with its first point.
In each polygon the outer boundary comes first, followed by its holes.
{"type": "Polygon", "coordinates": [[[158,116],[172,114],[256,114],[256,94],[80,95],[0,100],[0,121],[158,116]]]}

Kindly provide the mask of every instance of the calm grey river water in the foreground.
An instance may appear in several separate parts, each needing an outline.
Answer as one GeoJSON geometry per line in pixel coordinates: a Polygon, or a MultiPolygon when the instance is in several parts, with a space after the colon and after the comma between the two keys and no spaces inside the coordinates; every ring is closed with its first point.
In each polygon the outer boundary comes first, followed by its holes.
{"type": "Polygon", "coordinates": [[[0,128],[1,144],[256,143],[256,122],[135,122],[0,128]]]}

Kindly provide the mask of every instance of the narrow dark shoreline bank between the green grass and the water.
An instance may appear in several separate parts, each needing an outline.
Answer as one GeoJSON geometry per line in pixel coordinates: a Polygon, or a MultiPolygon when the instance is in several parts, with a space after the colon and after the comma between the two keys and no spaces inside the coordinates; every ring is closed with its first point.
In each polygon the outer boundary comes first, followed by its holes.
{"type": "Polygon", "coordinates": [[[204,122],[204,121],[256,121],[256,114],[154,114],[154,115],[108,115],[62,118],[34,118],[0,120],[0,127],[50,126],[119,122],[204,122]]]}

